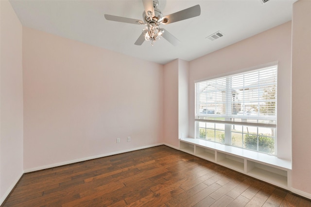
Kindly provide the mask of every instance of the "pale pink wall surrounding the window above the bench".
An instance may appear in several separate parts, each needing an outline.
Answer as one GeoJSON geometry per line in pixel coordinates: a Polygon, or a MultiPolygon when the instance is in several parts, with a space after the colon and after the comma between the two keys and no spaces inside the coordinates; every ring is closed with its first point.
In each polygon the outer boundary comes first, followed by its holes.
{"type": "Polygon", "coordinates": [[[277,155],[291,159],[291,32],[287,22],[190,62],[190,137],[194,137],[195,81],[278,61],[277,155]]]}

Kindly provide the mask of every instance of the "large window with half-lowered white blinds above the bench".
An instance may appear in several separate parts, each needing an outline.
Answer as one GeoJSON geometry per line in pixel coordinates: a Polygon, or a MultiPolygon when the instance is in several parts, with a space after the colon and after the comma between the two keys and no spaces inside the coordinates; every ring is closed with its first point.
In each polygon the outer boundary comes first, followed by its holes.
{"type": "Polygon", "coordinates": [[[195,83],[196,138],[276,155],[277,66],[195,83]]]}

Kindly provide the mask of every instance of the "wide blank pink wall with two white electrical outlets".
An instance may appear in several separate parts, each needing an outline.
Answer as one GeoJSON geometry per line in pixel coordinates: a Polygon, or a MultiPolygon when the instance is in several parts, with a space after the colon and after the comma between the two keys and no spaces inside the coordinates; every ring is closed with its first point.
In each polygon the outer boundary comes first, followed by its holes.
{"type": "Polygon", "coordinates": [[[23,72],[26,171],[164,141],[162,65],[24,27],[23,72]]]}

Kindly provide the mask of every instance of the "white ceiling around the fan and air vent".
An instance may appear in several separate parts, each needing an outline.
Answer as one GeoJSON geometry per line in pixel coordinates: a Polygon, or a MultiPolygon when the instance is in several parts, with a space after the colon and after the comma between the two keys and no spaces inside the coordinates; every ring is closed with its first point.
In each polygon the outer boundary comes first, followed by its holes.
{"type": "Polygon", "coordinates": [[[142,19],[141,0],[10,0],[23,26],[140,59],[166,64],[193,60],[292,19],[296,0],[159,0],[164,16],[199,4],[201,15],[162,25],[181,43],[165,39],[134,45],[143,25],[108,21],[104,14],[142,19]],[[207,36],[221,31],[211,41],[207,36]]]}

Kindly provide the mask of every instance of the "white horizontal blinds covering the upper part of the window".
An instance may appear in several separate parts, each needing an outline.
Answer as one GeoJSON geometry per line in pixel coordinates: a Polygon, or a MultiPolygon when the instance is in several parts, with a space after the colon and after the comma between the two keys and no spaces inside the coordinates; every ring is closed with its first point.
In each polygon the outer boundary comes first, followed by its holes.
{"type": "Polygon", "coordinates": [[[195,83],[196,121],[276,127],[277,66],[195,83]]]}

